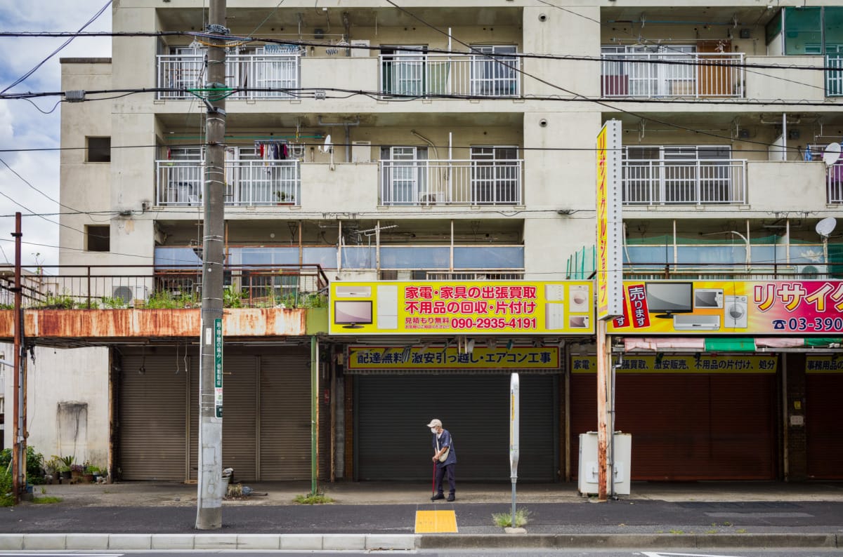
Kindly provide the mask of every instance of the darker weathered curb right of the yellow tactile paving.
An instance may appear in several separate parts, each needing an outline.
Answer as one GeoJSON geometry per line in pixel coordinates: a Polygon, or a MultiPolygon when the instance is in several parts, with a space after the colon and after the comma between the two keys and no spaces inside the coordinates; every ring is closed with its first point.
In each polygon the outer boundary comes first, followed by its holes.
{"type": "Polygon", "coordinates": [[[483,548],[839,548],[843,534],[835,533],[615,533],[615,534],[427,534],[421,536],[419,549],[483,549],[483,548]]]}

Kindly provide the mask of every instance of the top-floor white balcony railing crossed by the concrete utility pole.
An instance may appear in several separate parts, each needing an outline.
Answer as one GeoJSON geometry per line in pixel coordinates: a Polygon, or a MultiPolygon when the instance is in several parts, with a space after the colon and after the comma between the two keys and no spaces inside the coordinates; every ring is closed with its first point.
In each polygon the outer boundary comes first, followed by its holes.
{"type": "MultiPolygon", "coordinates": [[[[158,98],[196,98],[190,90],[206,87],[205,54],[159,55],[158,98]]],[[[298,52],[282,54],[235,54],[226,56],[225,85],[227,88],[249,88],[235,91],[228,98],[291,98],[288,89],[298,89],[301,82],[301,56],[298,52]],[[263,89],[263,90],[254,90],[263,89]]],[[[207,97],[207,91],[197,92],[207,97]]],[[[222,93],[224,94],[224,93],[222,93]]]]}

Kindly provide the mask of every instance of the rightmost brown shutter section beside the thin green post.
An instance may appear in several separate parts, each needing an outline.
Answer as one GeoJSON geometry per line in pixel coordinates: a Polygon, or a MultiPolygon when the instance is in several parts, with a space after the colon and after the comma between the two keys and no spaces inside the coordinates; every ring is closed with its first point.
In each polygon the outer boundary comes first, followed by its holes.
{"type": "Polygon", "coordinates": [[[260,480],[310,479],[310,350],[260,358],[260,480]]]}

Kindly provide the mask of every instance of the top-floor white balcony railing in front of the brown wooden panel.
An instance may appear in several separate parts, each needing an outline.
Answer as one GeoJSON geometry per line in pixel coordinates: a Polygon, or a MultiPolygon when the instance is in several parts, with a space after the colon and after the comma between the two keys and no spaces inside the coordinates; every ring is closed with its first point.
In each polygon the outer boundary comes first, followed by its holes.
{"type": "Polygon", "coordinates": [[[742,52],[618,52],[600,58],[604,97],[744,98],[742,52]]]}

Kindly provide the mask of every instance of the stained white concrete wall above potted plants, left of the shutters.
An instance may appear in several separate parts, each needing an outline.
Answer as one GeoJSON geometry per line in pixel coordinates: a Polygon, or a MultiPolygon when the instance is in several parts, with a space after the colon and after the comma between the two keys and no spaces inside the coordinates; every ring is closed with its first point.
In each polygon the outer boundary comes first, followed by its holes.
{"type": "MultiPolygon", "coordinates": [[[[13,353],[10,344],[0,345],[13,353]]],[[[27,443],[49,459],[75,456],[105,467],[109,455],[109,349],[35,348],[27,360],[27,443]]],[[[11,401],[13,385],[7,385],[11,401]]],[[[8,405],[4,445],[12,446],[12,405],[8,405]]]]}

